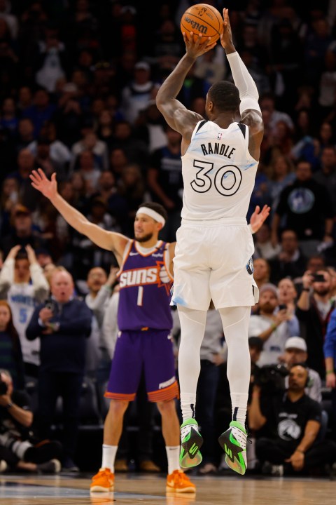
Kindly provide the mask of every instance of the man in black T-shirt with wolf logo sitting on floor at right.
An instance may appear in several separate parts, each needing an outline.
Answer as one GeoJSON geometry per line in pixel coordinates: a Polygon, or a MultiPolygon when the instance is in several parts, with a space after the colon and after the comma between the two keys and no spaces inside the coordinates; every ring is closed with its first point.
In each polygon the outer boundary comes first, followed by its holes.
{"type": "Polygon", "coordinates": [[[253,387],[248,426],[253,430],[265,426],[268,431],[267,437],[258,438],[255,450],[264,471],[268,466],[272,475],[323,468],[336,461],[336,445],[316,441],[321,406],[304,393],[308,380],[307,368],[297,364],[290,369],[285,395],[265,401],[260,386],[253,387]]]}

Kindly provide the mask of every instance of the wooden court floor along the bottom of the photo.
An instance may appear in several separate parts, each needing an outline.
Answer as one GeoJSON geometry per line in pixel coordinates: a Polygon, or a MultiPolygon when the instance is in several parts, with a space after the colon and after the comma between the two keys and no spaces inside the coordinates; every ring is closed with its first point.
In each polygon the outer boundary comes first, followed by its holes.
{"type": "Polygon", "coordinates": [[[165,475],[120,474],[116,491],[88,491],[90,476],[0,477],[3,505],[321,505],[335,503],[335,481],[328,478],[251,478],[248,476],[193,477],[195,495],[166,495],[165,475]]]}

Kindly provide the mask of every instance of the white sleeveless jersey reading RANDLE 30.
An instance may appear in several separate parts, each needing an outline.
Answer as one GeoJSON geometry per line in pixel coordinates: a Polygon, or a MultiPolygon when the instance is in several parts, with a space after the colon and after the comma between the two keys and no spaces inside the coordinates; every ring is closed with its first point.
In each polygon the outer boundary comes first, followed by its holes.
{"type": "Polygon", "coordinates": [[[246,218],[258,161],[248,152],[248,127],[231,123],[220,128],[212,121],[195,126],[182,156],[185,220],[246,218]]]}

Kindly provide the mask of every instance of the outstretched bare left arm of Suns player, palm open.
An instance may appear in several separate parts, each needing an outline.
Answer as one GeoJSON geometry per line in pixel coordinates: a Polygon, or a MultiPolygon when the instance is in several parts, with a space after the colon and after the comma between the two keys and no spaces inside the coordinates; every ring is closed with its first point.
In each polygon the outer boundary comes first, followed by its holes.
{"type": "Polygon", "coordinates": [[[55,173],[52,174],[51,180],[49,180],[43,170],[38,168],[38,170],[33,170],[29,177],[32,187],[41,191],[46,198],[49,198],[52,205],[57,208],[59,213],[64,217],[64,220],[71,227],[76,229],[80,234],[90,238],[99,247],[111,250],[116,254],[118,260],[123,257],[123,250],[128,241],[127,237],[98,227],[97,224],[93,224],[87,220],[83,214],[69,205],[57,191],[55,173]]]}

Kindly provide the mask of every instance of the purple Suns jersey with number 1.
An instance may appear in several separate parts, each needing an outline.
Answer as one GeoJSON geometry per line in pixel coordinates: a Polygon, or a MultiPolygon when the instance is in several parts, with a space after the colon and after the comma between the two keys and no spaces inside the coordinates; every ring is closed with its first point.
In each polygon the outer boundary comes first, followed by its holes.
{"type": "Polygon", "coordinates": [[[172,314],[169,306],[172,276],[166,263],[166,243],[148,255],[131,241],[119,274],[118,328],[120,330],[170,330],[172,314]]]}

